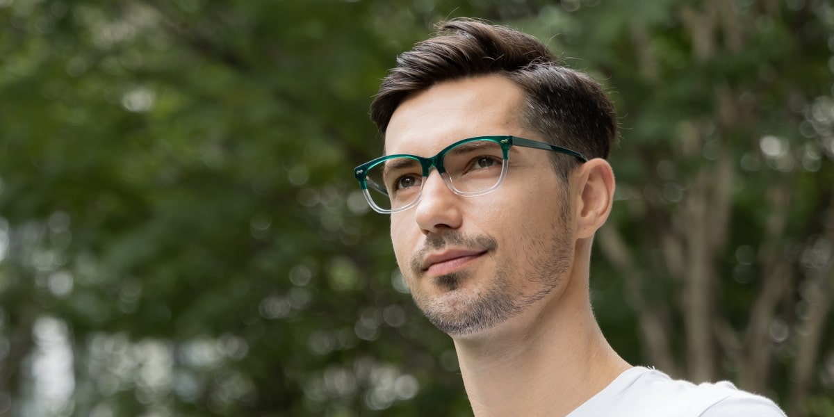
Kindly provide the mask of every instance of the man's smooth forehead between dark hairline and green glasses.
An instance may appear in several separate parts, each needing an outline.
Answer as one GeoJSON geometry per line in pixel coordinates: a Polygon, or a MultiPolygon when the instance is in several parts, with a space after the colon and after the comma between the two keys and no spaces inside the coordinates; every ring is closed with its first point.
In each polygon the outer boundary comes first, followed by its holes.
{"type": "Polygon", "coordinates": [[[437,83],[394,111],[385,153],[430,156],[463,138],[519,135],[523,99],[523,91],[499,75],[437,83]]]}

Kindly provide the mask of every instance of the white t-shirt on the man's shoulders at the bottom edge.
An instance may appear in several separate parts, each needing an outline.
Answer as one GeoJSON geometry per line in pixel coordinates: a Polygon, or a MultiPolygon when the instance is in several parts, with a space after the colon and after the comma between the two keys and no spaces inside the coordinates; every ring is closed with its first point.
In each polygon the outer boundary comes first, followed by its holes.
{"type": "Polygon", "coordinates": [[[692,384],[641,366],[620,374],[567,417],[785,417],[770,399],[722,381],[692,384]]]}

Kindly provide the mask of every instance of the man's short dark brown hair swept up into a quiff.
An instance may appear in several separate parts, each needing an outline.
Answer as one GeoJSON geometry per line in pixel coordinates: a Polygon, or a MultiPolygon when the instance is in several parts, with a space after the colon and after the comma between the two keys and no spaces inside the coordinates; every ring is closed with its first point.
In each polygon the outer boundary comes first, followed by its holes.
{"type": "MultiPolygon", "coordinates": [[[[600,84],[560,65],[538,39],[470,18],[439,23],[432,38],[397,57],[370,105],[371,119],[384,136],[394,110],[410,95],[436,83],[489,74],[506,77],[525,92],[522,126],[587,158],[608,157],[617,139],[616,113],[600,84]]],[[[555,167],[566,176],[573,164],[555,167]]]]}

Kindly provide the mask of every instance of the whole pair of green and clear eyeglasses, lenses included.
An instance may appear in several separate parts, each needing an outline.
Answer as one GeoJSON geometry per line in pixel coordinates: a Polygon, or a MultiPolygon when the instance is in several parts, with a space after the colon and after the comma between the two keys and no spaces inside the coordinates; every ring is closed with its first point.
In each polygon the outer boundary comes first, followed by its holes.
{"type": "Polygon", "coordinates": [[[409,154],[376,158],[354,168],[354,175],[371,208],[382,214],[397,213],[420,202],[432,167],[455,194],[475,197],[494,191],[507,176],[512,146],[565,153],[588,162],[581,153],[550,143],[515,136],[479,136],[452,143],[431,158],[409,154]]]}

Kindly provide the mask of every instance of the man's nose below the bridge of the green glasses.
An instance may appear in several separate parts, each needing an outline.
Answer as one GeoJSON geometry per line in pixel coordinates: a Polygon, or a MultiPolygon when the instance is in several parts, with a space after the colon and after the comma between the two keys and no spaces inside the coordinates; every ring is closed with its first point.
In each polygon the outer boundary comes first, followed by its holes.
{"type": "Polygon", "coordinates": [[[421,193],[414,220],[424,234],[460,228],[463,219],[460,213],[460,196],[446,186],[444,178],[436,169],[425,178],[421,193]]]}

